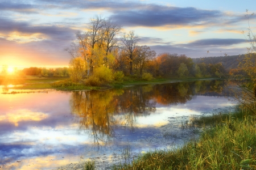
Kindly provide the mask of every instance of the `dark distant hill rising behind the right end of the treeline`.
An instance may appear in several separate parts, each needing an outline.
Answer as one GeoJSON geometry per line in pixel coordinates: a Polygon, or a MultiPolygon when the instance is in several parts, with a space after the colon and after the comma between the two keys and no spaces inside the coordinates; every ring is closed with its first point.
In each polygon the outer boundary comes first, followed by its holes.
{"type": "Polygon", "coordinates": [[[217,64],[222,63],[222,66],[226,70],[237,69],[238,64],[245,58],[245,55],[237,56],[220,56],[220,57],[202,57],[202,58],[192,58],[194,63],[206,63],[206,64],[217,64]]]}

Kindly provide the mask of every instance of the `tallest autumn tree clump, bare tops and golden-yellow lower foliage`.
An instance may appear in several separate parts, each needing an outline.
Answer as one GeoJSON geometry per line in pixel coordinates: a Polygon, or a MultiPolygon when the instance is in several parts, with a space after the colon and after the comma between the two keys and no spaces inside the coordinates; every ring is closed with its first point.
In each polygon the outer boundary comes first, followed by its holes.
{"type": "MultiPolygon", "coordinates": [[[[74,58],[82,57],[85,61],[83,75],[92,75],[94,67],[110,66],[114,62],[112,50],[117,46],[117,35],[121,26],[111,19],[94,16],[90,19],[85,32],[77,32],[76,40],[65,50],[74,58]]],[[[73,73],[73,72],[71,72],[73,73]]],[[[83,76],[84,77],[84,76],[83,76]]]]}

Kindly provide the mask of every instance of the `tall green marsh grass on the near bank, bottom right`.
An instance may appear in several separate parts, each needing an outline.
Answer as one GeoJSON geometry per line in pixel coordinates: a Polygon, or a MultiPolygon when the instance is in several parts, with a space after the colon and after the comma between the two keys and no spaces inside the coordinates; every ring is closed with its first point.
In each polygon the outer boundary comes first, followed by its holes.
{"type": "Polygon", "coordinates": [[[255,117],[238,117],[226,115],[197,140],[175,150],[147,152],[113,169],[256,169],[255,117]]]}

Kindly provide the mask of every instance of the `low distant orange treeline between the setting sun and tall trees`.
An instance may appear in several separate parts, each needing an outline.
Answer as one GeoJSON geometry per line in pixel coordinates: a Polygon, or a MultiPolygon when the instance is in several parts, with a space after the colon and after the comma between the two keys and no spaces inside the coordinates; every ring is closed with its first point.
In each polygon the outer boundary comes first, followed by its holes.
{"type": "Polygon", "coordinates": [[[38,68],[38,67],[30,67],[23,69],[22,72],[24,75],[36,75],[36,76],[43,76],[43,77],[69,77],[68,67],[63,68],[56,68],[56,69],[46,69],[38,68]]]}

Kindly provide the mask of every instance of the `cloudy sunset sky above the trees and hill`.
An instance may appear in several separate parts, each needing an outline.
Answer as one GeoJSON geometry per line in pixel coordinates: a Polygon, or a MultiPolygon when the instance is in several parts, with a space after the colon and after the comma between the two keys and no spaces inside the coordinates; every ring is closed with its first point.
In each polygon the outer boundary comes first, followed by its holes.
{"type": "MultiPolygon", "coordinates": [[[[157,55],[245,54],[250,46],[246,10],[256,13],[255,0],[0,0],[0,67],[68,66],[71,57],[64,49],[96,15],[112,18],[123,33],[134,31],[138,45],[157,55]]],[[[255,16],[249,23],[256,33],[255,16]]]]}

